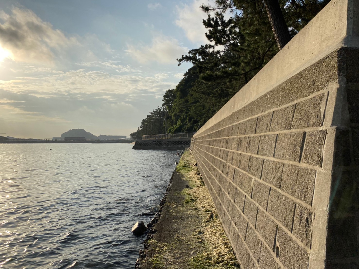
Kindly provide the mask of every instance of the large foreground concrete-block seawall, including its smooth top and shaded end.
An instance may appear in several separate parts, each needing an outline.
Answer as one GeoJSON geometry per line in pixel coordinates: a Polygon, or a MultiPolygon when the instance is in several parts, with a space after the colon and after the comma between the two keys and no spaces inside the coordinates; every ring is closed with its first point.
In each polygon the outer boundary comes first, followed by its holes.
{"type": "Polygon", "coordinates": [[[192,139],[243,269],[359,268],[358,14],[331,1],[192,139]]]}

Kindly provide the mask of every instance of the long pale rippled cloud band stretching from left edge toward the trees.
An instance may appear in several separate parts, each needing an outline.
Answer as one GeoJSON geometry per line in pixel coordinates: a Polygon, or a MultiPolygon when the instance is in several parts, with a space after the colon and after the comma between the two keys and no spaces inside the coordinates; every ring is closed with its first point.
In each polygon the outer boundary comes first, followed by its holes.
{"type": "MultiPolygon", "coordinates": [[[[63,73],[39,75],[36,80],[2,80],[1,88],[14,93],[36,93],[37,96],[48,96],[53,93],[163,93],[173,88],[175,82],[166,81],[167,74],[152,76],[139,74],[113,75],[103,71],[71,70],[63,73]]],[[[105,94],[106,95],[106,94],[105,94]]]]}

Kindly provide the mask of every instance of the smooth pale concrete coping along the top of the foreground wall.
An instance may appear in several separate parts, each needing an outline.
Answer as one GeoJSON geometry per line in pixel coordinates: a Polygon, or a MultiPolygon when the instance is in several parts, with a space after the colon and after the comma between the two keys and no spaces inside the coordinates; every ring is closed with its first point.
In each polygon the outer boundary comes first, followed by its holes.
{"type": "Polygon", "coordinates": [[[359,47],[358,0],[330,1],[194,137],[340,47],[359,47]]]}

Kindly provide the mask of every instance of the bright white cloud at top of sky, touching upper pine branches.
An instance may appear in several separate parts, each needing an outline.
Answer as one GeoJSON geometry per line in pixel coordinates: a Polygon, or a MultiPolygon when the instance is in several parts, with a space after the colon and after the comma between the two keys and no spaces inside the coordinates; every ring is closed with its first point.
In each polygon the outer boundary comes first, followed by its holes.
{"type": "Polygon", "coordinates": [[[191,5],[177,6],[176,25],[185,31],[186,37],[191,42],[206,44],[208,39],[205,36],[206,28],[202,24],[202,19],[206,19],[208,15],[201,10],[202,3],[203,0],[195,0],[191,5]]]}

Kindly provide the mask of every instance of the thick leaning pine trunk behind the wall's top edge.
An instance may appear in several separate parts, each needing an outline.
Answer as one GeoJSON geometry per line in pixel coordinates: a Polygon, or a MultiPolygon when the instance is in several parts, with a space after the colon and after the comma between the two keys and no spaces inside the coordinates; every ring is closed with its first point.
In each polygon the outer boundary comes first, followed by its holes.
{"type": "Polygon", "coordinates": [[[275,40],[277,41],[279,49],[282,49],[292,37],[290,37],[279,2],[278,0],[264,0],[264,3],[275,40]]]}

